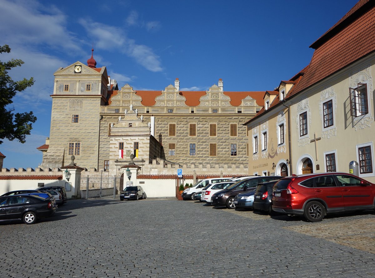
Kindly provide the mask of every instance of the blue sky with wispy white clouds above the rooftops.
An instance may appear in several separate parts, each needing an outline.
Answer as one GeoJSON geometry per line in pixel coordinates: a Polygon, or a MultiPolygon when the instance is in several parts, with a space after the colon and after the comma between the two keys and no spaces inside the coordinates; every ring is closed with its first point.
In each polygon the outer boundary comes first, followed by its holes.
{"type": "Polygon", "coordinates": [[[34,1],[0,0],[0,45],[22,59],[14,80],[34,77],[13,98],[15,112],[37,116],[26,143],[0,145],[5,168],[35,168],[49,136],[53,73],[86,63],[94,44],[97,67],[119,87],[201,91],[223,79],[224,91],[272,90],[308,65],[309,46],[357,0],[315,1],[34,1]]]}

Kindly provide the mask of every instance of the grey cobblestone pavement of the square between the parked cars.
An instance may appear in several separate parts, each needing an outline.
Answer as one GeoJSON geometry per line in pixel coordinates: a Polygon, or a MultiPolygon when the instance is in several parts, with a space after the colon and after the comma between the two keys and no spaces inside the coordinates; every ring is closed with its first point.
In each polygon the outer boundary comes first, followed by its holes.
{"type": "Polygon", "coordinates": [[[195,201],[69,200],[0,224],[1,277],[375,277],[374,211],[301,217],[195,201]]]}

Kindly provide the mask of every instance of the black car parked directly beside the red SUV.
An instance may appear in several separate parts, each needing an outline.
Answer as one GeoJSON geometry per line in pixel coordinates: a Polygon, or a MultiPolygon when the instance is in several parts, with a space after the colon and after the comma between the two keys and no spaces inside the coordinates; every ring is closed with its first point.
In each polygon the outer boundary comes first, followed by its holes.
{"type": "MultiPolygon", "coordinates": [[[[273,197],[273,186],[275,183],[278,182],[279,179],[269,181],[267,183],[260,183],[257,186],[257,189],[255,189],[254,195],[253,195],[253,208],[254,210],[260,210],[265,211],[269,213],[270,215],[273,214],[272,210],[272,197],[273,197]]],[[[240,194],[242,195],[242,194],[240,194]]],[[[236,196],[237,198],[237,196],[236,196]]],[[[236,204],[236,207],[237,204],[236,204]]]]}

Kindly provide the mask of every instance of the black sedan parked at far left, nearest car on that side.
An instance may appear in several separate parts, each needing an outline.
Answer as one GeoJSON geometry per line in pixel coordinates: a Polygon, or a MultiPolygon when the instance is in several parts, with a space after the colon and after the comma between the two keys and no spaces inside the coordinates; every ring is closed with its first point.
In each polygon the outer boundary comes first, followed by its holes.
{"type": "Polygon", "coordinates": [[[52,216],[56,211],[53,197],[36,195],[10,195],[0,197],[0,222],[22,220],[34,224],[43,217],[52,216]]]}

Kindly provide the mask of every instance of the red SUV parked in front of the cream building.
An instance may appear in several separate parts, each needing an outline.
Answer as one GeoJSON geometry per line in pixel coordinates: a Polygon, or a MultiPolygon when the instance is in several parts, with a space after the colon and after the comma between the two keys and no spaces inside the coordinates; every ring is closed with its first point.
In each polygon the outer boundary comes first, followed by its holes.
{"type": "Polygon", "coordinates": [[[347,173],[285,177],[273,186],[272,210],[323,220],[326,213],[374,209],[375,184],[347,173]]]}

